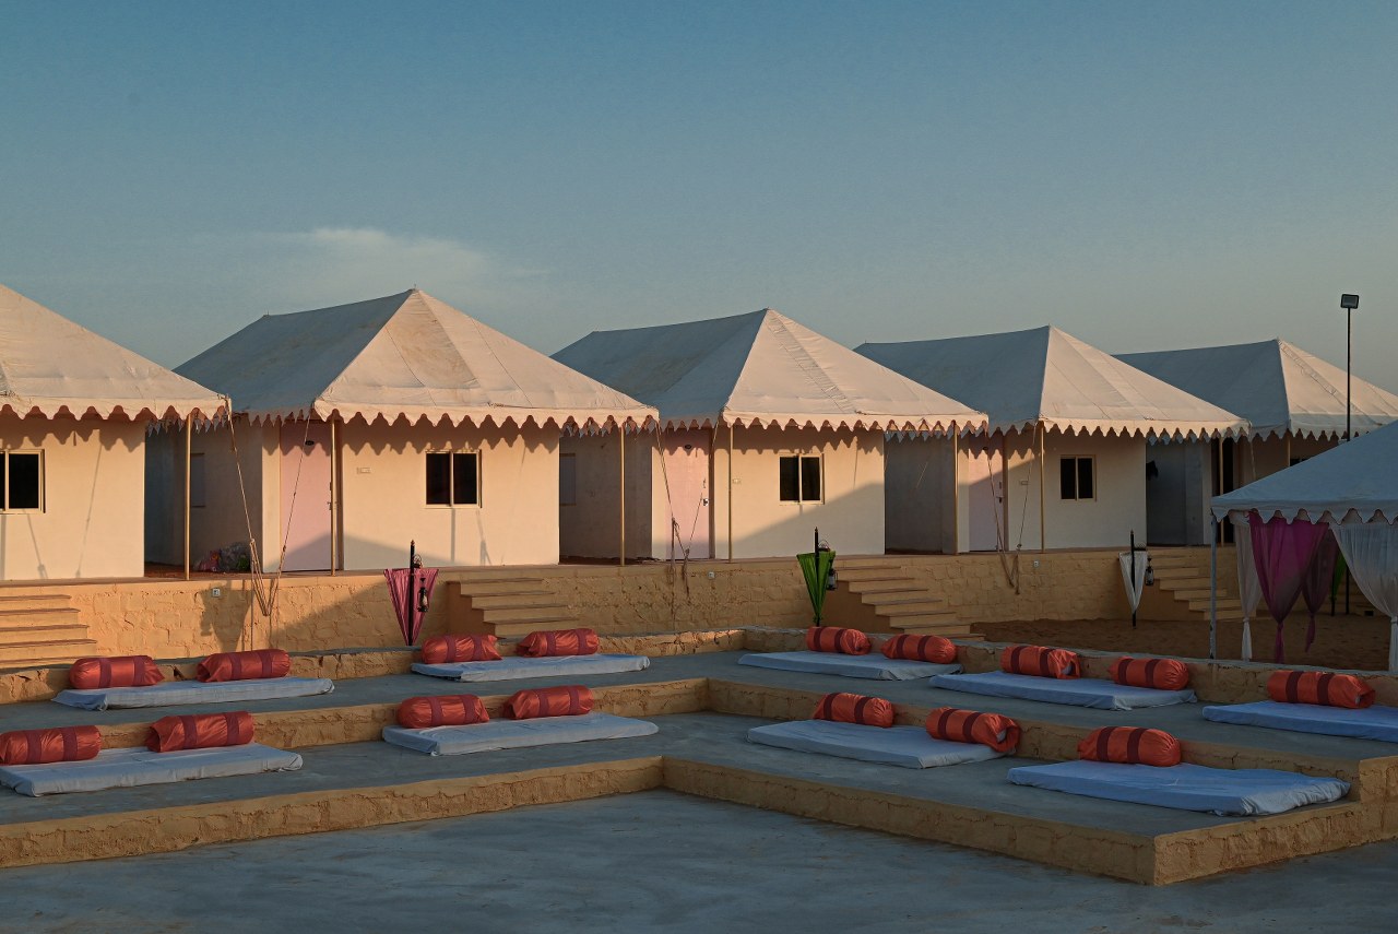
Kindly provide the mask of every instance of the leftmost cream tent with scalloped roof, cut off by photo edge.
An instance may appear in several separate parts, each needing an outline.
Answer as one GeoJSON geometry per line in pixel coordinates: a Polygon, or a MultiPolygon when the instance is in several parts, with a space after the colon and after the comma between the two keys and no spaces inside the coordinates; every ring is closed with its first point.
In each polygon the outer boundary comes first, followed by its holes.
{"type": "Polygon", "coordinates": [[[147,426],[222,400],[0,285],[0,579],[138,577],[147,426]],[[22,488],[22,489],[18,489],[22,488]],[[18,494],[18,495],[17,495],[18,494]]]}

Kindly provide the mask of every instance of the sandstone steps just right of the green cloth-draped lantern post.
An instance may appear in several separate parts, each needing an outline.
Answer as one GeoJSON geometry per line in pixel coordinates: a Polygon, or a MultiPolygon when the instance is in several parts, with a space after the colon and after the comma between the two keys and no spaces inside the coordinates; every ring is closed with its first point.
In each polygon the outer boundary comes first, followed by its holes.
{"type": "Polygon", "coordinates": [[[837,558],[839,587],[825,596],[823,618],[867,632],[977,638],[942,597],[902,566],[881,558],[837,558]]]}

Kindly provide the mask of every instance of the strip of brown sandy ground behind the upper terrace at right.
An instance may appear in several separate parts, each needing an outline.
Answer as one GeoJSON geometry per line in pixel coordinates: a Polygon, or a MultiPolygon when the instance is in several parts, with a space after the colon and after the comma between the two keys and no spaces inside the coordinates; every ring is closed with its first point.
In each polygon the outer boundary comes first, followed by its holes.
{"type": "MultiPolygon", "coordinates": [[[[1381,617],[1329,617],[1316,619],[1316,642],[1306,650],[1309,619],[1304,608],[1292,614],[1283,628],[1286,661],[1289,664],[1325,666],[1331,668],[1359,668],[1383,671],[1388,667],[1388,621],[1381,617]]],[[[1032,642],[1039,645],[1100,649],[1104,652],[1148,652],[1187,659],[1206,659],[1209,654],[1209,624],[1205,622],[1146,622],[1135,629],[1131,619],[1086,619],[1032,622],[984,622],[976,629],[990,642],[1032,642]]],[[[1254,619],[1253,660],[1271,661],[1276,624],[1262,614],[1254,619]]],[[[1218,628],[1218,657],[1239,659],[1243,646],[1243,624],[1220,622],[1218,628]]]]}

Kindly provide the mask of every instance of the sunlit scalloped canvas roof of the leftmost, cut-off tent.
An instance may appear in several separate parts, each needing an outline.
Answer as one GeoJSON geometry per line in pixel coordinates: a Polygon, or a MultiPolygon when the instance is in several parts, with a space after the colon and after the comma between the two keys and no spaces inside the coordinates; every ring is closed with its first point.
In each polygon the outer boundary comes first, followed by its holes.
{"type": "Polygon", "coordinates": [[[0,285],[0,411],[21,418],[211,418],[215,393],[0,285]]]}

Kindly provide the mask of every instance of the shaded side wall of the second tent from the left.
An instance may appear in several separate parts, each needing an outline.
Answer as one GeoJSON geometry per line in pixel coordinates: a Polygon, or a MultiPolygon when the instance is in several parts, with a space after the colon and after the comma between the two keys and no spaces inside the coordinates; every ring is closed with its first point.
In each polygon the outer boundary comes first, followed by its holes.
{"type": "MultiPolygon", "coordinates": [[[[252,519],[252,537],[263,565],[268,570],[277,568],[281,554],[280,489],[275,482],[264,485],[263,477],[277,477],[281,454],[277,450],[275,425],[250,425],[239,418],[232,428],[238,439],[238,454],[242,461],[242,488],[247,495],[247,512],[243,513],[243,494],[239,489],[238,464],[233,463],[232,442],[228,425],[212,431],[196,431],[190,439],[190,453],[201,454],[204,470],[204,505],[189,510],[189,556],[190,566],[197,565],[215,548],[226,548],[249,538],[247,519],[252,519]],[[266,530],[266,533],[264,533],[266,530]]],[[[171,432],[175,468],[173,519],[162,524],[172,537],[161,545],[159,561],[183,565],[183,509],[185,509],[185,436],[171,432]]],[[[164,460],[164,456],[161,457],[164,460]]]]}

